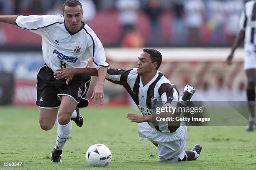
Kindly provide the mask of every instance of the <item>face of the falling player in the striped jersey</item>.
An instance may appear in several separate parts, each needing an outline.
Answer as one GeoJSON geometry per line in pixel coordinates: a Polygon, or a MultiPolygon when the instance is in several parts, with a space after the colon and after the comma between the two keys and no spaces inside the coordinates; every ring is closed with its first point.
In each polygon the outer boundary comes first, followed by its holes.
{"type": "Polygon", "coordinates": [[[137,73],[143,75],[152,72],[154,69],[156,69],[156,65],[156,62],[152,63],[150,54],[147,52],[142,52],[138,56],[137,73]]]}

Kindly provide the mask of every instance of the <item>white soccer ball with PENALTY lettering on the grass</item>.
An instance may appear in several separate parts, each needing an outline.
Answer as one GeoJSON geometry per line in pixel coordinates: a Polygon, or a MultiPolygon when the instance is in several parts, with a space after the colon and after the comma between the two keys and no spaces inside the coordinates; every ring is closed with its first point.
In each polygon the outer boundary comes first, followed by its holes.
{"type": "Polygon", "coordinates": [[[106,145],[97,143],[90,146],[85,154],[85,160],[90,166],[105,167],[112,158],[111,151],[106,145]]]}

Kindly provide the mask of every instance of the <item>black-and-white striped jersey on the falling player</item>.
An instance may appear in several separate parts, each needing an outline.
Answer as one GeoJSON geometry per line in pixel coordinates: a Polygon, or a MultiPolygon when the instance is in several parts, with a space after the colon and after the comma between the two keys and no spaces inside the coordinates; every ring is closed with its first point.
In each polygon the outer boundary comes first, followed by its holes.
{"type": "MultiPolygon", "coordinates": [[[[160,71],[157,71],[156,75],[145,86],[141,82],[141,75],[138,75],[137,68],[131,70],[108,68],[106,79],[123,85],[143,115],[152,113],[151,106],[156,101],[164,102],[162,105],[168,104],[175,107],[179,100],[176,85],[172,84],[160,71]]],[[[163,133],[172,133],[177,129],[172,128],[170,122],[167,121],[159,122],[159,125],[155,126],[152,122],[148,123],[152,128],[163,133]]]]}

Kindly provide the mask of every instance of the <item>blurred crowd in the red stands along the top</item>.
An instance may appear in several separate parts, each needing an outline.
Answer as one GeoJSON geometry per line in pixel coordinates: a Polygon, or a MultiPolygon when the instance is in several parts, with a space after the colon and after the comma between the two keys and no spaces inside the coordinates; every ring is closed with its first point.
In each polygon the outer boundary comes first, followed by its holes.
{"type": "MultiPolygon", "coordinates": [[[[0,15],[61,14],[65,0],[0,0],[0,15]]],[[[103,45],[227,46],[245,0],[79,0],[103,45]],[[100,20],[100,21],[99,21],[100,20]],[[102,31],[102,23],[108,31],[102,31]],[[112,27],[111,27],[112,26],[112,27]],[[108,32],[115,32],[109,40],[108,32]]]]}

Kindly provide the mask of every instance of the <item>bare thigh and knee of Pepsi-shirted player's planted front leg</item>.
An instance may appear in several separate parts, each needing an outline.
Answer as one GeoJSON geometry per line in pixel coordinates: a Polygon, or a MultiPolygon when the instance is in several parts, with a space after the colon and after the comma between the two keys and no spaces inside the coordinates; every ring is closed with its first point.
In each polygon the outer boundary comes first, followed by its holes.
{"type": "Polygon", "coordinates": [[[61,104],[59,107],[59,124],[66,125],[70,119],[71,115],[77,107],[77,102],[68,95],[61,95],[61,104]]]}

